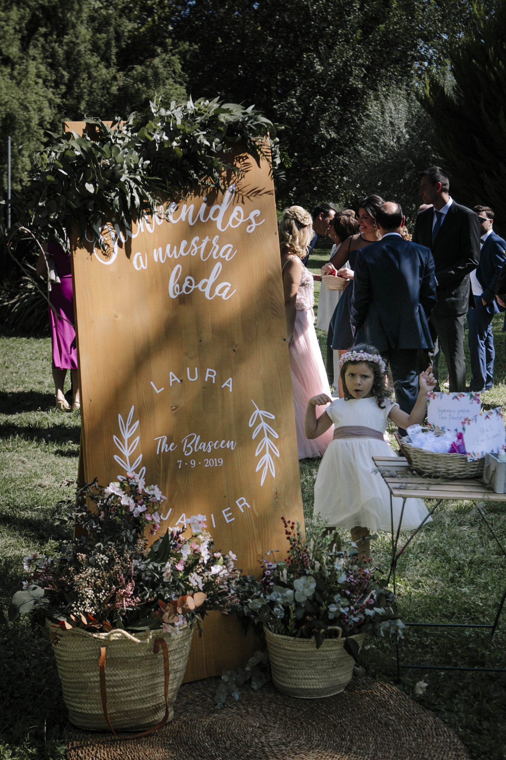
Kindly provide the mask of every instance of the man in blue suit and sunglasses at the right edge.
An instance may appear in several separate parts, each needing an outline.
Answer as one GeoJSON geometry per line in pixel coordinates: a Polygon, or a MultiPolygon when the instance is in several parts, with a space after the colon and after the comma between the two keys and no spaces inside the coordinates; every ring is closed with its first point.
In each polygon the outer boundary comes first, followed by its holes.
{"type": "Polygon", "coordinates": [[[470,391],[485,391],[494,382],[494,336],[492,317],[498,314],[495,302],[498,277],[506,261],[506,242],[492,230],[494,212],[488,206],[475,206],[481,233],[479,266],[471,272],[469,310],[469,351],[471,357],[470,391]]]}

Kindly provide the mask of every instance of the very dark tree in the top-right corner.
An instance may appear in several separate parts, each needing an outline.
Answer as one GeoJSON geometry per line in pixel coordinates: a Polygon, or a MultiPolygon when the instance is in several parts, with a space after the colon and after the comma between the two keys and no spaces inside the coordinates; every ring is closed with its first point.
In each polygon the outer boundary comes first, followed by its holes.
{"type": "Polygon", "coordinates": [[[467,205],[495,209],[506,232],[506,0],[473,2],[466,32],[454,41],[450,71],[429,74],[422,102],[435,123],[451,190],[467,205]]]}

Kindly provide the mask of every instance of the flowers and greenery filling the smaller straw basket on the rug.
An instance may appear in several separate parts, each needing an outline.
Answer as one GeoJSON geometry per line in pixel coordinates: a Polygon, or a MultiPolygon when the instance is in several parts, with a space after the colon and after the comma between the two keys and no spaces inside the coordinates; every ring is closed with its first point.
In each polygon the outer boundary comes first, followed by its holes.
{"type": "Polygon", "coordinates": [[[335,635],[358,633],[402,637],[404,623],[394,594],[376,580],[371,559],[352,546],[341,551],[335,530],[317,519],[306,525],[281,518],[288,539],[288,556],[262,560],[262,577],[244,575],[237,581],[236,610],[246,625],[266,625],[272,632],[294,638],[315,638],[321,646],[335,635]]]}

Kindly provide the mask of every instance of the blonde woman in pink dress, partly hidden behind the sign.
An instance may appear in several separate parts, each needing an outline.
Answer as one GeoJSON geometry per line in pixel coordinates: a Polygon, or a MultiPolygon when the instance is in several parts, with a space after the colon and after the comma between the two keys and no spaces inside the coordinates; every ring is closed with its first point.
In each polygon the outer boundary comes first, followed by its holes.
{"type": "MultiPolygon", "coordinates": [[[[312,238],[311,214],[301,206],[285,208],[279,223],[279,242],[299,459],[321,457],[332,441],[330,430],[312,440],[304,432],[307,402],[320,388],[330,395],[314,327],[313,275],[302,263],[312,238]]],[[[325,405],[321,411],[324,409],[325,405]]]]}

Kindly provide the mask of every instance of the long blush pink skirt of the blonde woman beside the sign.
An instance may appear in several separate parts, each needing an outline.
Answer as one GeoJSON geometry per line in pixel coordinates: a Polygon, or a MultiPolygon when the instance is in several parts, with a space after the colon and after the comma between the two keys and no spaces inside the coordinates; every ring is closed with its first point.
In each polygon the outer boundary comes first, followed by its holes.
{"type": "MultiPolygon", "coordinates": [[[[304,432],[307,402],[319,393],[330,396],[330,387],[314,321],[313,309],[297,309],[294,339],[290,344],[291,385],[294,392],[299,459],[322,457],[334,435],[333,426],[313,440],[307,439],[304,432]]],[[[325,407],[316,407],[316,416],[320,416],[324,411],[325,407]]]]}

